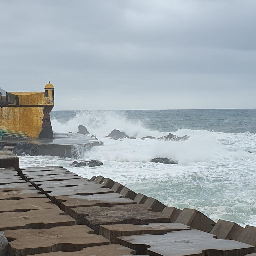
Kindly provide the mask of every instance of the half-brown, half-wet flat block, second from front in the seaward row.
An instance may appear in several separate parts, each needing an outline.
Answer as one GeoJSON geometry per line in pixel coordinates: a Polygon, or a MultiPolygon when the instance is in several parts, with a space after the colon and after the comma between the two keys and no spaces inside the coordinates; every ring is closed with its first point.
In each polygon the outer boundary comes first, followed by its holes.
{"type": "Polygon", "coordinates": [[[162,235],[166,232],[188,230],[191,227],[181,223],[150,223],[148,225],[116,224],[101,225],[100,235],[105,236],[111,243],[116,243],[118,236],[134,236],[143,234],[162,235]]]}

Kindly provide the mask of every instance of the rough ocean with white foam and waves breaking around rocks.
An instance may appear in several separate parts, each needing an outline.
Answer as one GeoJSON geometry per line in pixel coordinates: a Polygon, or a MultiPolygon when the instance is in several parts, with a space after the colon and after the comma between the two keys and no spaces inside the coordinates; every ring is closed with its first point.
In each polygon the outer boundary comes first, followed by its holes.
{"type": "Polygon", "coordinates": [[[86,126],[104,146],[81,160],[103,165],[71,167],[70,158],[23,156],[20,166],[63,165],[86,178],[111,178],[167,206],[256,226],[256,109],[52,111],[51,120],[56,132],[86,126]],[[105,138],[113,129],[138,139],[105,138]],[[189,139],[140,139],[169,132],[189,139]],[[155,157],[171,157],[178,165],[150,162],[155,157]]]}

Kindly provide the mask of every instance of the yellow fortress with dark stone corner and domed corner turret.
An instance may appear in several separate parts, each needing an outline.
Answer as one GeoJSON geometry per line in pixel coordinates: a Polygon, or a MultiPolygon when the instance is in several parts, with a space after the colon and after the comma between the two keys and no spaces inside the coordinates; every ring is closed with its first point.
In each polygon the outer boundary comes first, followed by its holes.
{"type": "Polygon", "coordinates": [[[31,138],[53,139],[50,112],[54,107],[54,87],[44,92],[5,92],[0,89],[0,126],[27,132],[31,138]]]}

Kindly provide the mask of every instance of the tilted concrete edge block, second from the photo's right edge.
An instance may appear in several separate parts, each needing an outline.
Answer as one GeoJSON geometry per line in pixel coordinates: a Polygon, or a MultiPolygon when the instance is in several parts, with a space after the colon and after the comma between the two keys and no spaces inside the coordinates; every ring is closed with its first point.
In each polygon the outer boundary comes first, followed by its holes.
{"type": "Polygon", "coordinates": [[[210,233],[216,235],[218,239],[237,240],[243,230],[244,228],[235,222],[218,220],[210,233]]]}

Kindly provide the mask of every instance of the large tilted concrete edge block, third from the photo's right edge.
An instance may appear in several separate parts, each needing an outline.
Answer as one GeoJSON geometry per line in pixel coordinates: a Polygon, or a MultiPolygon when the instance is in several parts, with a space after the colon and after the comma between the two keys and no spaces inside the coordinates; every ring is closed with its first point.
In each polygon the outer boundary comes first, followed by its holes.
{"type": "Polygon", "coordinates": [[[175,222],[179,222],[208,233],[211,232],[212,228],[216,224],[202,212],[189,208],[183,209],[175,222]]]}

